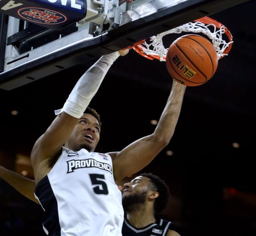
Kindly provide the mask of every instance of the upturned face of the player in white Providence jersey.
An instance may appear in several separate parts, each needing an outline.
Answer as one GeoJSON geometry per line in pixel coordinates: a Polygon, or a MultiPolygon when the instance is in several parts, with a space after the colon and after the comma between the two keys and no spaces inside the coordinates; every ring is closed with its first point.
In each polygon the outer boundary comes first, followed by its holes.
{"type": "Polygon", "coordinates": [[[85,148],[94,151],[100,139],[100,126],[97,119],[90,114],[83,114],[67,140],[67,148],[79,151],[85,148]]]}

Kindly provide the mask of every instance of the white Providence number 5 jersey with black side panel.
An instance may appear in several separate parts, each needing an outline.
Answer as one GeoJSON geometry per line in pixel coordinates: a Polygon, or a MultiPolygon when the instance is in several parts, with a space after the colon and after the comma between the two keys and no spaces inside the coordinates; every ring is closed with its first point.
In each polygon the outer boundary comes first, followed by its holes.
{"type": "Polygon", "coordinates": [[[36,185],[49,236],[121,236],[121,191],[107,154],[62,148],[54,167],[36,185]]]}

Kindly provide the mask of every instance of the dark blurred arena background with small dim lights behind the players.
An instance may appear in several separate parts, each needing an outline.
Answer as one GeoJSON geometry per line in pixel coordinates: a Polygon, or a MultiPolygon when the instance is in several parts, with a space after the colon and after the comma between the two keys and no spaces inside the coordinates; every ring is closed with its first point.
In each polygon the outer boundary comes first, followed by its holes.
{"type": "MultiPolygon", "coordinates": [[[[211,80],[187,87],[173,138],[141,171],[168,183],[171,202],[161,217],[181,236],[256,235],[255,9],[250,0],[209,15],[232,33],[232,49],[211,80]]],[[[1,166],[34,178],[33,144],[98,58],[0,90],[1,166]]],[[[154,131],[152,120],[159,119],[171,85],[164,62],[133,49],[118,58],[90,103],[102,120],[96,151],[119,151],[154,131]]],[[[42,216],[40,205],[0,179],[0,236],[44,236],[42,216]]]]}

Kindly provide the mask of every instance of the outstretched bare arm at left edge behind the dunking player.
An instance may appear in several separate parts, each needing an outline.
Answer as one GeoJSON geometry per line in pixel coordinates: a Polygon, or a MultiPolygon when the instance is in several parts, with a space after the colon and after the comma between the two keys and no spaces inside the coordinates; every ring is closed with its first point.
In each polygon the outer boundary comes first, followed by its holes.
{"type": "Polygon", "coordinates": [[[3,166],[0,166],[0,178],[9,183],[19,193],[39,204],[34,195],[34,190],[36,187],[34,180],[23,177],[14,171],[7,170],[3,166]]]}

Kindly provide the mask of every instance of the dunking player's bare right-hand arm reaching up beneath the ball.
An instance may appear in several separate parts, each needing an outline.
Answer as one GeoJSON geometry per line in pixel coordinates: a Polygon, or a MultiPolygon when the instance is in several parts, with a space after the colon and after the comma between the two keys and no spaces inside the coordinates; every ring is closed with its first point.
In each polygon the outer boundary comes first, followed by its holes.
{"type": "Polygon", "coordinates": [[[109,153],[116,180],[142,170],[170,142],[180,115],[185,88],[186,86],[173,80],[170,95],[155,131],[131,143],[122,151],[109,153]]]}

